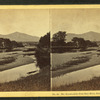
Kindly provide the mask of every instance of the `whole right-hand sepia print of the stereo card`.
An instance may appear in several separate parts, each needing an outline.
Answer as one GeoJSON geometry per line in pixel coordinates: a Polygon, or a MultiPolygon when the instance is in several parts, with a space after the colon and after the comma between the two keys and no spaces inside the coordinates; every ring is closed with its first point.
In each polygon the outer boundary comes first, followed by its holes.
{"type": "Polygon", "coordinates": [[[100,90],[100,8],[50,12],[52,91],[100,90]]]}

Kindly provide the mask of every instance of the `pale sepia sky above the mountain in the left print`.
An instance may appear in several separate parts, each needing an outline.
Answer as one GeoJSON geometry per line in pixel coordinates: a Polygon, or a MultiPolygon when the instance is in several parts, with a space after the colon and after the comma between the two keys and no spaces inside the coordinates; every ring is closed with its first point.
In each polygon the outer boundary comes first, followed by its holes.
{"type": "Polygon", "coordinates": [[[0,9],[0,34],[21,32],[41,37],[49,31],[49,10],[0,9]]]}

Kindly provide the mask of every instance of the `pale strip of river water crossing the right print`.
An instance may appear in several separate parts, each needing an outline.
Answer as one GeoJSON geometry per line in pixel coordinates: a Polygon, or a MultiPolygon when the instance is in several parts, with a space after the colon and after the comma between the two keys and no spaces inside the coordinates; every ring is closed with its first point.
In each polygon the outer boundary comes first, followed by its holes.
{"type": "Polygon", "coordinates": [[[59,87],[69,85],[76,82],[88,81],[94,77],[100,76],[100,65],[89,67],[86,69],[67,73],[58,77],[52,78],[52,86],[59,87]]]}

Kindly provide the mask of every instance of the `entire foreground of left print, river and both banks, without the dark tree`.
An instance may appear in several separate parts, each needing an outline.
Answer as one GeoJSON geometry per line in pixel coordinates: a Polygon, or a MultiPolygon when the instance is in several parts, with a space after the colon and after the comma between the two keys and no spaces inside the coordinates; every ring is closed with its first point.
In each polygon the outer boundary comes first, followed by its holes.
{"type": "Polygon", "coordinates": [[[37,62],[35,51],[23,51],[22,49],[21,51],[2,52],[0,61],[1,78],[4,77],[0,83],[0,91],[50,90],[50,66],[37,72],[36,65],[34,66],[37,62]]]}

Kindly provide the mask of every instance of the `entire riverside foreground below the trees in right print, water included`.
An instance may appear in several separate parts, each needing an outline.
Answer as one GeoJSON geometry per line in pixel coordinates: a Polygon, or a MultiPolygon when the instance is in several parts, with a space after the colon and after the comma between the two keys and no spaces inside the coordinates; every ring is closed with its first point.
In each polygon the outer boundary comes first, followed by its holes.
{"type": "Polygon", "coordinates": [[[59,60],[58,63],[56,61],[54,62],[55,68],[52,71],[53,91],[100,89],[100,78],[97,78],[100,76],[100,52],[66,53],[63,55],[59,54],[56,57],[59,60]],[[60,64],[59,68],[57,64],[60,64]]]}

